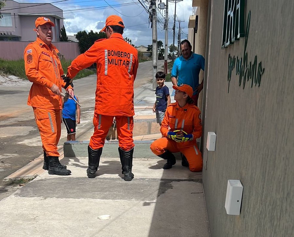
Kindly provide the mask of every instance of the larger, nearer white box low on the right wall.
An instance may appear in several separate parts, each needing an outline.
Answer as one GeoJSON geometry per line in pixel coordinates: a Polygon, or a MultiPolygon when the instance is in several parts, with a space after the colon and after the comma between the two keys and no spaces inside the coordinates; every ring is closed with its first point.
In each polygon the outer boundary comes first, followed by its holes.
{"type": "Polygon", "coordinates": [[[226,192],[226,213],[228,215],[240,215],[243,185],[240,180],[228,180],[226,192]]]}

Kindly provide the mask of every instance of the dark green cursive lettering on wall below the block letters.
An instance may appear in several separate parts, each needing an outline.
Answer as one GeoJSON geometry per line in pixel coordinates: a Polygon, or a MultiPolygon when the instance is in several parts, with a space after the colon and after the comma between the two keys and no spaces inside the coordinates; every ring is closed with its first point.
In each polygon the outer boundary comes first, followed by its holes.
{"type": "Polygon", "coordinates": [[[255,86],[260,86],[261,83],[261,76],[264,73],[264,68],[261,66],[261,62],[258,63],[257,67],[257,56],[255,55],[254,61],[248,63],[248,54],[246,51],[247,42],[248,42],[248,35],[249,35],[249,26],[250,26],[250,11],[248,13],[247,23],[246,23],[246,30],[245,30],[245,44],[244,44],[244,53],[243,58],[237,58],[235,56],[231,56],[229,54],[228,57],[228,93],[230,88],[230,81],[232,77],[232,71],[236,68],[236,75],[239,75],[239,86],[242,85],[243,89],[245,88],[246,82],[251,84],[251,88],[253,84],[255,86]]]}

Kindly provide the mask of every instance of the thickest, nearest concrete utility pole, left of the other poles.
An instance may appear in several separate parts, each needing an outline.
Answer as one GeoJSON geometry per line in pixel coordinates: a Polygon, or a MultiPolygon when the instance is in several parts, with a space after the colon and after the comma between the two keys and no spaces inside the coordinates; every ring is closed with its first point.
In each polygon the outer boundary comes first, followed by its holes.
{"type": "Polygon", "coordinates": [[[152,8],[152,66],[153,66],[153,77],[152,77],[152,89],[156,91],[157,82],[155,74],[157,73],[157,13],[156,13],[156,0],[151,0],[152,8]]]}

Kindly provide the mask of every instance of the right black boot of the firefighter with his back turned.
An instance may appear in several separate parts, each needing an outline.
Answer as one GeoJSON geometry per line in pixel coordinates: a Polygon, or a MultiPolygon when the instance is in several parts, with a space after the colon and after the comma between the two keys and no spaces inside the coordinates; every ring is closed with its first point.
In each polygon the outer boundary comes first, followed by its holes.
{"type": "Polygon", "coordinates": [[[134,178],[134,174],[132,173],[134,148],[129,151],[124,151],[119,147],[118,153],[120,154],[120,162],[122,163],[123,179],[125,181],[131,181],[134,178]]]}

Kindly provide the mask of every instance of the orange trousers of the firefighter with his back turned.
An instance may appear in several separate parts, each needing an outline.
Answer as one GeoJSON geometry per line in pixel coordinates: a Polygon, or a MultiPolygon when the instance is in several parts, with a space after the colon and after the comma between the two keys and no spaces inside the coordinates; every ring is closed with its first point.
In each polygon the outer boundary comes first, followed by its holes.
{"type": "Polygon", "coordinates": [[[95,113],[93,118],[94,134],[91,136],[89,143],[92,149],[97,150],[104,146],[105,137],[114,117],[120,148],[124,151],[129,151],[135,146],[133,140],[134,119],[132,116],[111,116],[95,113]]]}

